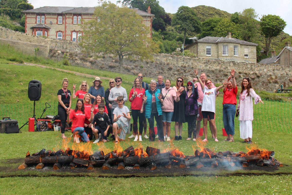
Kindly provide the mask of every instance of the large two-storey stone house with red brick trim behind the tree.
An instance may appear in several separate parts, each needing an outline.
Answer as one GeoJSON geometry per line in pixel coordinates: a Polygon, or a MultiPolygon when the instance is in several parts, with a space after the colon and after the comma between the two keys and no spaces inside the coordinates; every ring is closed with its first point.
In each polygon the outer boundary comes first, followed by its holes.
{"type": "MultiPolygon", "coordinates": [[[[50,39],[60,39],[78,42],[83,32],[80,24],[83,20],[93,19],[94,7],[53,7],[45,6],[25,13],[25,33],[46,36],[50,39]]],[[[133,9],[141,15],[145,26],[150,27],[149,37],[152,37],[152,21],[150,6],[147,12],[133,9]]]]}

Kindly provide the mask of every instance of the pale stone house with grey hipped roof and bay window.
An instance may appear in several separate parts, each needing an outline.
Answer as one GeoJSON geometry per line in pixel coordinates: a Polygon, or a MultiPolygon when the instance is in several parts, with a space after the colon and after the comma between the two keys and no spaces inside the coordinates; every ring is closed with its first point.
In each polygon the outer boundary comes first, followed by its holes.
{"type": "Polygon", "coordinates": [[[258,44],[235,39],[231,32],[226,37],[204,37],[185,47],[198,58],[256,63],[258,44]]]}

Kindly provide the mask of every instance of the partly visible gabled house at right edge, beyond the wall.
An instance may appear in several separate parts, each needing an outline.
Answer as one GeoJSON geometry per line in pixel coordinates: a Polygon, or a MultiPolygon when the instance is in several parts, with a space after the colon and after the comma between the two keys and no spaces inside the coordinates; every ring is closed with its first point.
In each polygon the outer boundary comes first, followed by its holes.
{"type": "Polygon", "coordinates": [[[279,55],[276,55],[276,52],[272,51],[272,57],[262,59],[259,64],[292,66],[292,47],[290,46],[290,42],[286,42],[285,45],[279,55]]]}

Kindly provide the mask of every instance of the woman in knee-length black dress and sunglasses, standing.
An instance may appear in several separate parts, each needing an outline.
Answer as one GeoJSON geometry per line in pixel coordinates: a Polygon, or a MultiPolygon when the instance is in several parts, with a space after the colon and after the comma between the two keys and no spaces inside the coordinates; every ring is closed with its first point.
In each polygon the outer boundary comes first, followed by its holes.
{"type": "Polygon", "coordinates": [[[183,86],[183,77],[178,77],[176,80],[175,86],[173,86],[175,92],[178,91],[178,89],[181,89],[182,94],[180,95],[180,101],[175,102],[174,101],[174,108],[173,108],[173,116],[172,120],[175,122],[174,125],[174,132],[175,132],[175,140],[181,140],[182,139],[182,130],[183,130],[183,123],[185,122],[185,87],[183,86]],[[178,136],[179,131],[179,136],[178,136]]]}

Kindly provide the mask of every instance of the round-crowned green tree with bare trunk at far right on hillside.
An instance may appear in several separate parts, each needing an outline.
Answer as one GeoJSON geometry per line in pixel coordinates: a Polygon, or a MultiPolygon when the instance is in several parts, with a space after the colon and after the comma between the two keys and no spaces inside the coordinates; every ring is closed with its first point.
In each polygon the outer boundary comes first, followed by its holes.
{"type": "Polygon", "coordinates": [[[278,36],[286,27],[286,22],[277,15],[263,15],[260,19],[260,27],[265,36],[266,56],[270,53],[270,45],[273,37],[278,36]]]}

